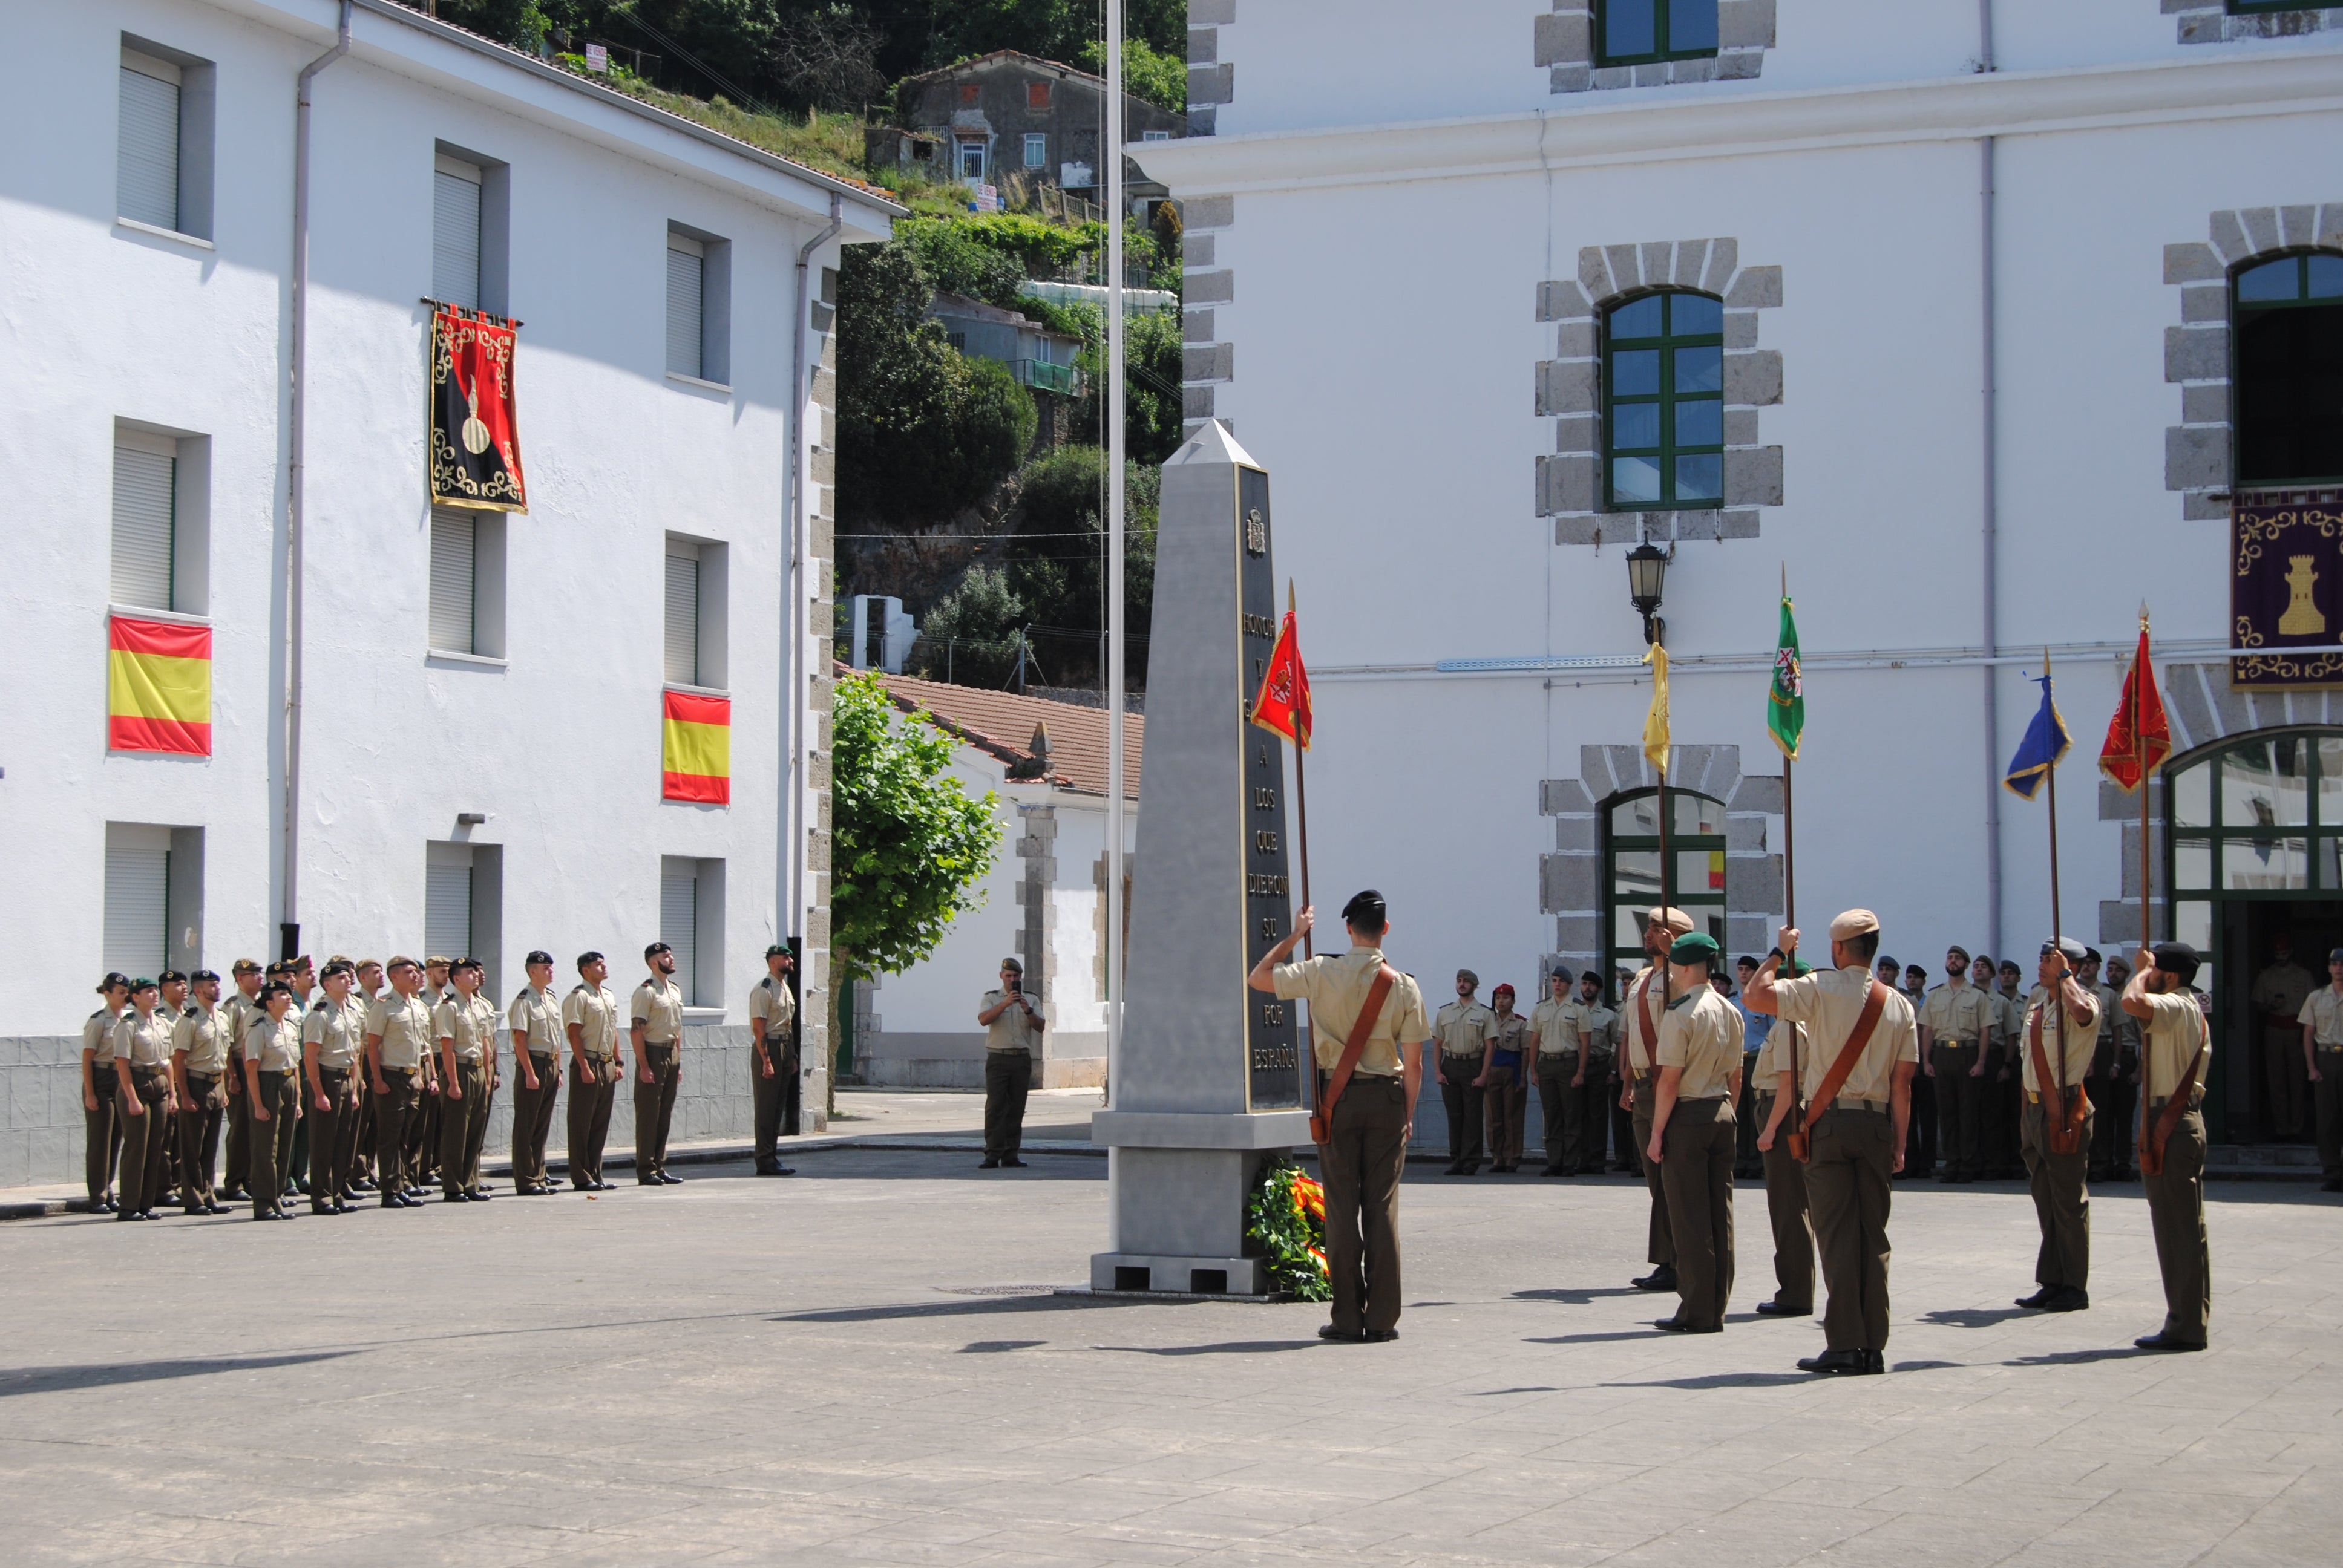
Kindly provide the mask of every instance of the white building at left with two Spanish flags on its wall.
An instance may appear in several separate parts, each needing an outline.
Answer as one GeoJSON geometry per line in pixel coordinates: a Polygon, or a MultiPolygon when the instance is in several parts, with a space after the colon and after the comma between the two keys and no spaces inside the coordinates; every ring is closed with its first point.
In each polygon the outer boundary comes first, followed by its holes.
{"type": "Polygon", "coordinates": [[[532,947],[562,989],[602,949],[623,989],[663,938],[694,1003],[677,1137],[745,1125],[766,945],[804,940],[811,1020],[827,984],[832,436],[799,415],[834,361],[806,295],[900,209],[389,0],[12,21],[0,1186],[80,1170],[101,970],[293,947],[469,949],[504,1001],[532,947]],[[295,288],[298,77],[337,28],[295,288]],[[522,323],[527,513],[429,504],[426,300],[522,323]],[[209,755],[108,748],[110,607],[209,628],[209,755]],[[731,698],[729,804],[661,797],[665,689],[731,698]]]}

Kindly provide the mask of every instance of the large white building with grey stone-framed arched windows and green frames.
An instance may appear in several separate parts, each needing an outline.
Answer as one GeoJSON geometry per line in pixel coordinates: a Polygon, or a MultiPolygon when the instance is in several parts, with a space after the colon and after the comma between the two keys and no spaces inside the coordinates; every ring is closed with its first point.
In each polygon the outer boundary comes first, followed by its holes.
{"type": "MultiPolygon", "coordinates": [[[[2219,792],[2209,771],[2181,788],[2202,832],[2172,855],[2158,832],[2158,935],[2214,956],[2235,1059],[2275,926],[2296,952],[2343,940],[2320,837],[2343,783],[2310,783],[2315,759],[2343,780],[2343,743],[2306,743],[2343,734],[2343,701],[2235,691],[2216,656],[2231,497],[2331,504],[2313,485],[2343,483],[2343,9],[1664,16],[1673,35],[1652,0],[1366,0],[1340,26],[1298,0],[1190,5],[1207,136],[1143,162],[1186,211],[1188,417],[1225,420],[1277,488],[1317,677],[1321,905],[1380,886],[1394,956],[1434,991],[1471,966],[1523,1005],[1542,963],[1633,945],[1657,853],[1635,841],[1649,687],[1621,558],[1652,539],[1673,551],[1671,783],[1703,797],[1675,893],[1729,949],[1764,952],[1785,907],[1764,731],[1783,570],[1802,923],[1870,905],[1905,961],[1963,942],[2031,968],[2045,809],[1999,780],[2050,645],[2076,738],[2064,923],[2120,947],[2137,802],[2092,759],[2146,600],[2174,769],[2228,757],[2219,792]],[[2308,286],[2306,255],[2329,258],[2308,286]],[[2254,349],[2280,293],[2298,328],[2254,349]],[[2263,349],[2294,391],[2245,384],[2263,349]],[[1642,384],[1659,352],[1682,384],[1642,384]],[[2254,459],[2284,422],[2313,455],[2254,459]]],[[[2343,642],[2338,609],[2308,645],[2343,642]]],[[[2228,1071],[2226,1137],[2259,1120],[2259,1078],[2228,1071]]]]}

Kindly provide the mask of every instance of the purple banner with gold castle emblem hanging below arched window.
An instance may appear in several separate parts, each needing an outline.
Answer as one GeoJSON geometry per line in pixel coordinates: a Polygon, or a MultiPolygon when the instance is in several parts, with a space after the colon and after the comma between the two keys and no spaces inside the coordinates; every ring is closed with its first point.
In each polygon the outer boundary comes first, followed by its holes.
{"type": "Polygon", "coordinates": [[[2343,687],[2343,654],[2287,652],[2343,645],[2343,506],[2238,506],[2228,539],[2231,684],[2343,687]]]}

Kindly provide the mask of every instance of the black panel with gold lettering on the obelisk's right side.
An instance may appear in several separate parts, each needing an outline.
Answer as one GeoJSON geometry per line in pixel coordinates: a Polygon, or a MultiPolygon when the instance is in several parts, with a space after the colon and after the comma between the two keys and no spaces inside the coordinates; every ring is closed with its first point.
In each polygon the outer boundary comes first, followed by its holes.
{"type": "MultiPolygon", "coordinates": [[[[1237,466],[1237,649],[1244,670],[1244,966],[1275,947],[1293,921],[1293,881],[1286,853],[1284,741],[1251,720],[1254,694],[1277,645],[1277,572],[1270,565],[1270,476],[1237,466]]],[[[1246,991],[1244,1059],[1246,1106],[1289,1111],[1303,1104],[1300,1003],[1246,991]]]]}

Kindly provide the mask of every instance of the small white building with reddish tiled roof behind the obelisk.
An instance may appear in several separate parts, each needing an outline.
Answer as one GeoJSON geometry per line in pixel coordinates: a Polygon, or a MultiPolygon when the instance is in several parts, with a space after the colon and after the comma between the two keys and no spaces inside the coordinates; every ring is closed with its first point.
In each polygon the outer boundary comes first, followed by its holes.
{"type": "MultiPolygon", "coordinates": [[[[897,708],[933,715],[958,741],[951,773],[972,797],[996,797],[1003,844],[982,905],[925,961],[855,984],[855,1076],[886,1088],[984,1088],[977,998],[1000,984],[1000,959],[1015,956],[1050,1020],[1033,1088],[1104,1083],[1106,710],[909,675],[888,675],[886,687],[897,708]]],[[[1143,748],[1146,720],[1127,715],[1127,837],[1139,832],[1143,748]]],[[[1127,858],[1125,916],[1134,870],[1127,858]]]]}

